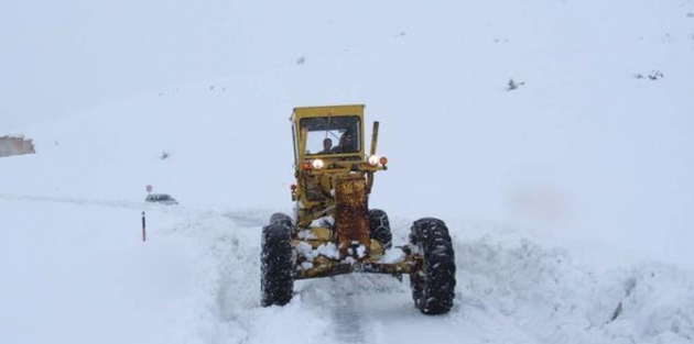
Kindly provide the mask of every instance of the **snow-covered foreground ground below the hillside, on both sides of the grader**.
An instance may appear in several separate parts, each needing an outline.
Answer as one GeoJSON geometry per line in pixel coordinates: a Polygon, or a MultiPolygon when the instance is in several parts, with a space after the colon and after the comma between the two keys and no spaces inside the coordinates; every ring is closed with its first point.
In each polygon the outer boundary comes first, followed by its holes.
{"type": "MultiPolygon", "coordinates": [[[[289,306],[263,309],[259,233],[270,211],[151,207],[143,243],[140,209],[123,202],[1,197],[0,302],[6,307],[0,310],[0,341],[691,343],[694,339],[694,281],[688,271],[643,264],[597,274],[574,266],[562,249],[503,234],[458,240],[455,229],[458,288],[449,314],[421,314],[412,306],[406,277],[400,282],[375,275],[299,281],[289,306]]],[[[403,243],[408,228],[393,231],[395,242],[403,243]]]]}

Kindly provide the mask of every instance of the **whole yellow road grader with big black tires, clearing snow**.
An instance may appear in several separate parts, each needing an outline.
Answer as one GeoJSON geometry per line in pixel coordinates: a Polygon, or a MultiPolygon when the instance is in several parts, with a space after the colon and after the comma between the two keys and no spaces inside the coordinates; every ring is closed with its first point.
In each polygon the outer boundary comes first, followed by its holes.
{"type": "Polygon", "coordinates": [[[294,280],[349,273],[410,276],[414,306],[426,314],[453,306],[455,257],[445,223],[415,221],[410,243],[393,247],[388,214],[370,209],[379,122],[365,146],[364,106],[295,108],[292,116],[294,217],[275,213],[262,231],[261,303],[286,304],[294,280]]]}

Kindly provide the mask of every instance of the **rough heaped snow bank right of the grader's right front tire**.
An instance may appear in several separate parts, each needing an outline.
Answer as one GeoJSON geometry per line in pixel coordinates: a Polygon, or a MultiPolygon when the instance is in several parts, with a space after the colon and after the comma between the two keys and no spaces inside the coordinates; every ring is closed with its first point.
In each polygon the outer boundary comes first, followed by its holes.
{"type": "MultiPolygon", "coordinates": [[[[659,263],[596,273],[564,249],[490,237],[456,245],[462,312],[510,321],[541,343],[691,343],[694,276],[659,263]]],[[[469,319],[469,318],[468,318],[469,319]]]]}

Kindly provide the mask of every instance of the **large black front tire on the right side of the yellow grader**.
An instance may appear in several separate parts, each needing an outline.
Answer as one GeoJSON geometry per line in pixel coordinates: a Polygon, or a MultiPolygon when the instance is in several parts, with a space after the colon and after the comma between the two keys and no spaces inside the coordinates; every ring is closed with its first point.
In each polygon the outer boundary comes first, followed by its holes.
{"type": "Polygon", "coordinates": [[[433,218],[415,221],[410,243],[424,258],[422,269],[410,275],[414,307],[424,314],[447,313],[455,297],[455,254],[446,224],[433,218]]]}

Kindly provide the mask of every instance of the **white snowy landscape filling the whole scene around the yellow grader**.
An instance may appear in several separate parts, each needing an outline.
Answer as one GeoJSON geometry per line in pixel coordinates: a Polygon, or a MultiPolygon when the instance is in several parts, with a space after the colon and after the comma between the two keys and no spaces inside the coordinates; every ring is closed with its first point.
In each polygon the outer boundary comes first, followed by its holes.
{"type": "Polygon", "coordinates": [[[44,2],[0,5],[0,136],[36,144],[0,159],[0,343],[694,343],[694,1],[44,2]],[[260,307],[288,118],[339,103],[395,244],[446,221],[451,313],[371,275],[260,307]]]}

